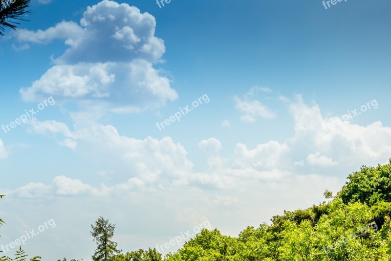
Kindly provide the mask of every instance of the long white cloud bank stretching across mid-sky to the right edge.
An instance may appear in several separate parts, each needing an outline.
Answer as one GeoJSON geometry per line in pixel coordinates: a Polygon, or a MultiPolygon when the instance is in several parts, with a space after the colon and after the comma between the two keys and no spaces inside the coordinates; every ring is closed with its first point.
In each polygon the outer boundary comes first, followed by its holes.
{"type": "MultiPolygon", "coordinates": [[[[271,182],[295,173],[333,175],[359,166],[386,163],[391,155],[391,128],[374,122],[359,126],[350,122],[326,130],[319,106],[307,105],[300,96],[288,110],[295,133],[283,142],[269,141],[255,146],[238,142],[228,157],[219,156],[221,142],[209,138],[198,142],[207,166],[194,169],[188,152],[170,137],[134,139],[120,135],[111,125],[101,125],[86,114],[72,115],[74,130],[56,121],[31,121],[31,130],[59,135],[76,150],[115,158],[116,165],[135,178],[122,188],[195,186],[214,189],[243,188],[247,181],[271,182]],[[376,133],[376,135],[373,135],[376,133]],[[72,146],[76,144],[77,146],[72,146]],[[338,159],[335,161],[334,159],[338,159]],[[305,167],[307,166],[307,167],[305,167]],[[331,171],[338,167],[338,171],[331,171]]],[[[55,136],[57,139],[57,136],[55,136]]]]}

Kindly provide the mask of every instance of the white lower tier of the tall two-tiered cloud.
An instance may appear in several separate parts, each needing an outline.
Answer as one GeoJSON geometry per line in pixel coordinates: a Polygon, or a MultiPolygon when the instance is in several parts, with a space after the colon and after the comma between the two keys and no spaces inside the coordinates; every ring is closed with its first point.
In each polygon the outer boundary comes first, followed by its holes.
{"type": "Polygon", "coordinates": [[[30,88],[22,88],[20,92],[24,100],[42,100],[53,95],[111,102],[113,112],[126,112],[129,103],[132,112],[160,107],[166,100],[178,97],[170,87],[169,79],[160,76],[150,63],[143,60],[128,64],[56,65],[30,88]]]}

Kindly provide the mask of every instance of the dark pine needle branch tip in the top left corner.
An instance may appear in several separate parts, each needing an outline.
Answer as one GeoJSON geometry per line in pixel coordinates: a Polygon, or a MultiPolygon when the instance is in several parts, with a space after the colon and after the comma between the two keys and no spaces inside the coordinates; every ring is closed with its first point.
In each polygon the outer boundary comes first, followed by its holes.
{"type": "Polygon", "coordinates": [[[0,0],[0,35],[4,35],[7,27],[16,29],[19,24],[13,20],[23,20],[23,16],[29,13],[27,8],[30,6],[30,0],[0,0]]]}

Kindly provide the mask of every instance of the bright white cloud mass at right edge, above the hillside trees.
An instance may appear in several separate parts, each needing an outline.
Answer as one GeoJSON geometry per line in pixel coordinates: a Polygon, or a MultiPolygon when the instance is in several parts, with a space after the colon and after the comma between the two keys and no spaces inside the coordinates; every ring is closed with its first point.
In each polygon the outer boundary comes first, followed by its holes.
{"type": "Polygon", "coordinates": [[[289,105],[289,112],[295,120],[295,136],[288,143],[295,150],[296,157],[292,157],[296,161],[335,165],[331,159],[338,159],[343,166],[377,165],[386,163],[391,155],[391,128],[379,121],[367,126],[345,121],[328,130],[324,123],[337,118],[325,119],[318,105],[308,106],[300,95],[289,105]],[[310,154],[314,155],[307,159],[310,154]]]}

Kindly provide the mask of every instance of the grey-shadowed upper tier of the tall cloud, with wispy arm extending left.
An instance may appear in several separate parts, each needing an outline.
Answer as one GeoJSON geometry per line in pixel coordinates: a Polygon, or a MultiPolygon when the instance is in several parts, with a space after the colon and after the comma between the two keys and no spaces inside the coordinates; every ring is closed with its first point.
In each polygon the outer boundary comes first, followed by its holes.
{"type": "Polygon", "coordinates": [[[165,52],[162,39],[154,36],[156,20],[127,3],[103,0],[88,6],[80,21],[63,21],[46,30],[18,30],[14,37],[21,42],[47,44],[65,39],[70,46],[57,59],[59,63],[75,64],[130,62],[145,59],[152,63],[165,52]],[[99,55],[97,55],[99,54],[99,55]]]}

